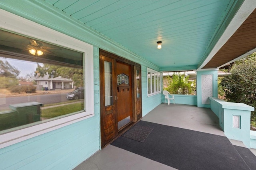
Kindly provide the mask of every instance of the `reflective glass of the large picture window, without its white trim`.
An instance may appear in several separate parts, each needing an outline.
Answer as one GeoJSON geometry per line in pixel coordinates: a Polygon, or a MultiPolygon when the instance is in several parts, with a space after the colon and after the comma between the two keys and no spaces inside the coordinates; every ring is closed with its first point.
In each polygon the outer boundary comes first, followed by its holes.
{"type": "Polygon", "coordinates": [[[1,134],[85,110],[83,53],[0,35],[1,134]]]}

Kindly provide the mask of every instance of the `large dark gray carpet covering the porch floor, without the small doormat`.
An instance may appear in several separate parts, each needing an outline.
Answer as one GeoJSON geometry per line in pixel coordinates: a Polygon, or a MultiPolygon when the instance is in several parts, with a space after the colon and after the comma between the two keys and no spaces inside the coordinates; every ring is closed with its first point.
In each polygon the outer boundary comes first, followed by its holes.
{"type": "Polygon", "coordinates": [[[143,143],[120,136],[111,145],[179,170],[256,170],[255,162],[245,161],[227,137],[147,121],[136,125],[154,130],[143,143]]]}

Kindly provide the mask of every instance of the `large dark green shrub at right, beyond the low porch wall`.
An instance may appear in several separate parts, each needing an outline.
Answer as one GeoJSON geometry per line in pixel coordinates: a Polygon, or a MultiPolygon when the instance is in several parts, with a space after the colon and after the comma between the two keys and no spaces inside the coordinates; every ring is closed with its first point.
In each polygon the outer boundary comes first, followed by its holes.
{"type": "MultiPolygon", "coordinates": [[[[228,102],[244,103],[256,109],[256,52],[236,61],[220,82],[228,102]]],[[[256,121],[256,111],[251,112],[256,121]]]]}

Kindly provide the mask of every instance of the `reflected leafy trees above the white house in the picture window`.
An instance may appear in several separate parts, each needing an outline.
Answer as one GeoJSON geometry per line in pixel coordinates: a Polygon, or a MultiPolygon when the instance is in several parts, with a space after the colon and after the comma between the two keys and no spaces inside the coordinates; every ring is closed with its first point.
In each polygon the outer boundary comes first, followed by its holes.
{"type": "Polygon", "coordinates": [[[37,64],[36,74],[39,73],[40,76],[49,74],[50,77],[70,78],[74,81],[75,86],[83,86],[84,84],[84,72],[82,68],[71,68],[64,66],[56,66],[51,64],[44,64],[40,66],[37,64]]]}

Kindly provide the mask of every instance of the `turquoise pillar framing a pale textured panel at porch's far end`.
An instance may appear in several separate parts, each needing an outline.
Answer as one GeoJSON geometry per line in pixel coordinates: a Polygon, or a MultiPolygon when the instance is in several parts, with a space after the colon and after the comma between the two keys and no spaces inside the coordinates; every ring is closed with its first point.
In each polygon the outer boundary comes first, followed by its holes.
{"type": "Polygon", "coordinates": [[[210,101],[208,104],[202,102],[202,96],[207,95],[208,92],[202,87],[202,84],[205,84],[205,82],[202,82],[202,75],[212,75],[212,96],[207,97],[218,97],[218,70],[196,71],[197,107],[210,108],[210,101]]]}

